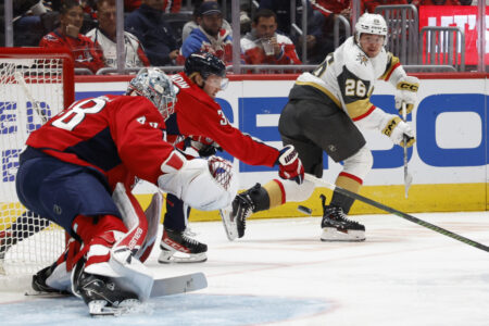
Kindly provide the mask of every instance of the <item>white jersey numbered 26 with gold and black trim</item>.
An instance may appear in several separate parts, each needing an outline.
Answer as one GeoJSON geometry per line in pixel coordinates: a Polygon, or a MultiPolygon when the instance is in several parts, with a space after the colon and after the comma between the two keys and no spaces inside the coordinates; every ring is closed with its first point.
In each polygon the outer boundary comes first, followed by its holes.
{"type": "Polygon", "coordinates": [[[396,86],[404,76],[397,57],[383,48],[377,57],[368,58],[352,36],[312,73],[301,74],[289,99],[326,101],[344,110],[356,122],[376,108],[369,100],[375,80],[388,80],[396,86]]]}

